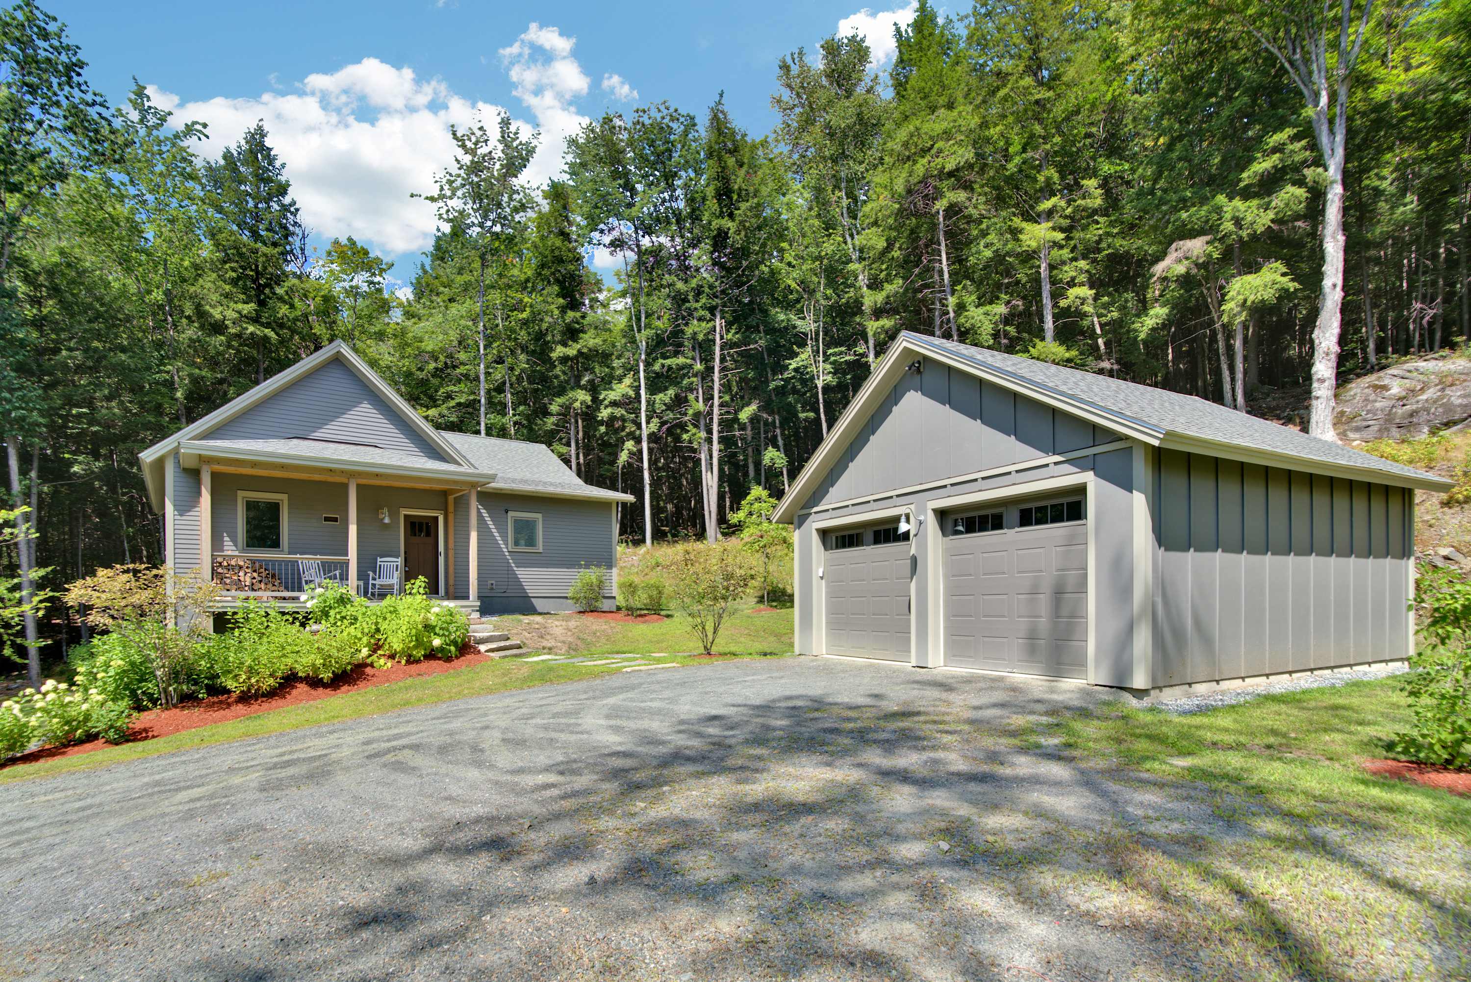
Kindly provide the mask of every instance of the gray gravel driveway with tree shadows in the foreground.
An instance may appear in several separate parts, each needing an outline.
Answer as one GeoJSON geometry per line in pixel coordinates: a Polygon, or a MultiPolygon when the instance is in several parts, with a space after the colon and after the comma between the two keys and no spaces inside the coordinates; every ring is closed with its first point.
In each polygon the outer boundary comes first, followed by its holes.
{"type": "Polygon", "coordinates": [[[1105,698],[747,660],[3,786],[0,978],[1193,975],[1089,864],[1212,803],[1005,738],[1105,698]]]}

